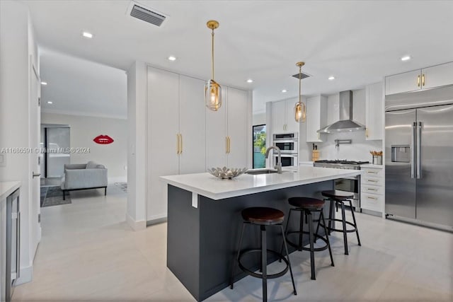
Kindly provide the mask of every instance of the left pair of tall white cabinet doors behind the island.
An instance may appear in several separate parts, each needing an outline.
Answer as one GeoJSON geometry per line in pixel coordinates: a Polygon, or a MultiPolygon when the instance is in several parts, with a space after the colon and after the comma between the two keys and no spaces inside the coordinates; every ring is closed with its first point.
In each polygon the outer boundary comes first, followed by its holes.
{"type": "Polygon", "coordinates": [[[204,82],[148,67],[147,220],[166,216],[162,175],[205,172],[204,82]]]}

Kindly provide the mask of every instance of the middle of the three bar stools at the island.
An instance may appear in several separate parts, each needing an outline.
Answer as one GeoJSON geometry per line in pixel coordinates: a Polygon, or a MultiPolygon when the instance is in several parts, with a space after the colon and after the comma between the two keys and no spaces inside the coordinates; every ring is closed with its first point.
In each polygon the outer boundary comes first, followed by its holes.
{"type": "Polygon", "coordinates": [[[291,245],[292,247],[297,248],[297,250],[299,250],[299,251],[308,250],[310,252],[311,279],[316,280],[315,271],[314,271],[314,252],[319,252],[321,250],[328,249],[328,252],[331,255],[331,265],[333,267],[335,266],[333,264],[331,243],[329,242],[328,236],[327,236],[326,221],[324,220],[324,214],[323,214],[324,201],[320,200],[320,199],[309,198],[309,197],[291,197],[288,199],[288,202],[295,208],[289,209],[288,221],[287,221],[286,228],[285,228],[285,236],[286,236],[287,243],[289,245],[291,245]],[[300,227],[299,227],[299,231],[288,232],[289,218],[291,217],[292,211],[300,212],[300,222],[299,222],[300,227]],[[319,220],[318,220],[318,226],[316,227],[316,233],[314,233],[314,231],[313,231],[313,228],[314,228],[313,213],[319,213],[319,220]],[[304,231],[304,216],[306,218],[308,218],[308,224],[309,224],[308,232],[304,231]],[[322,226],[324,228],[324,231],[326,232],[326,238],[323,238],[323,236],[320,236],[318,233],[321,219],[323,221],[322,226]],[[288,239],[288,234],[292,234],[292,233],[299,234],[299,243],[293,243],[291,240],[288,239]],[[309,240],[310,240],[309,248],[304,248],[304,245],[302,243],[302,238],[303,238],[304,234],[309,235],[309,240]],[[314,248],[314,243],[316,242],[316,239],[323,240],[323,242],[326,243],[326,245],[323,245],[320,248],[314,248]]]}

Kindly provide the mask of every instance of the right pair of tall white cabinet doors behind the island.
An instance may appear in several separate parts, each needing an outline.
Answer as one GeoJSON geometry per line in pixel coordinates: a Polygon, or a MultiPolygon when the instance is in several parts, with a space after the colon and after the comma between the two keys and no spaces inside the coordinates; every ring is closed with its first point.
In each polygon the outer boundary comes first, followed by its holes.
{"type": "Polygon", "coordinates": [[[222,107],[206,109],[206,167],[247,167],[248,92],[222,87],[222,107]]]}

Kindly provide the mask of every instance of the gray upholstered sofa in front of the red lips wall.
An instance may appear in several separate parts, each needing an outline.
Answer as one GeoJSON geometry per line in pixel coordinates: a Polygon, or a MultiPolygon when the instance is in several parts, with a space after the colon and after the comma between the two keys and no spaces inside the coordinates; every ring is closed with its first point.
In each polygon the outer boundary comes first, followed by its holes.
{"type": "Polygon", "coordinates": [[[107,169],[104,165],[88,163],[71,163],[64,165],[62,178],[63,199],[67,191],[104,188],[107,194],[107,169]]]}

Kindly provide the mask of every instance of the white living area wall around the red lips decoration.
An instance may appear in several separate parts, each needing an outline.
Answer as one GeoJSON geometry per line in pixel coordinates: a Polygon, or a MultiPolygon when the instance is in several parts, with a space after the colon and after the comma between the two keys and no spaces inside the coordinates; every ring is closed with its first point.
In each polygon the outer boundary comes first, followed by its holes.
{"type": "Polygon", "coordinates": [[[71,148],[89,148],[89,153],[71,153],[71,163],[96,161],[108,168],[112,181],[126,180],[127,170],[127,120],[84,115],[61,115],[42,112],[42,124],[69,124],[71,148]],[[93,139],[107,134],[112,144],[96,144],[93,139]]]}

